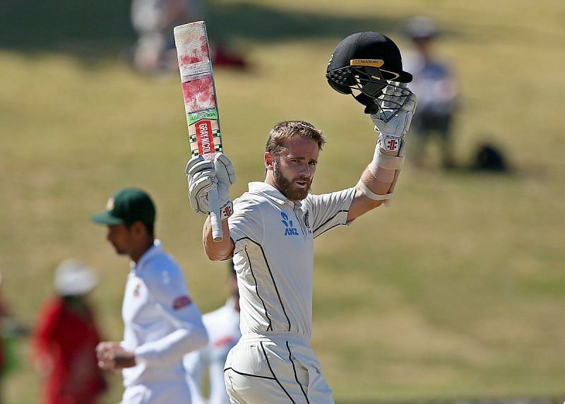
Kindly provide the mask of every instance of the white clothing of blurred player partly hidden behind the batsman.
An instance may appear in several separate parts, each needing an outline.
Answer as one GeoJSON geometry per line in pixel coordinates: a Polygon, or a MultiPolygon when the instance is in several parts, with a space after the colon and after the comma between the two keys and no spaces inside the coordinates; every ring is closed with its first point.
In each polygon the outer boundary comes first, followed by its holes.
{"type": "Polygon", "coordinates": [[[202,374],[206,370],[210,385],[208,403],[230,404],[230,398],[225,391],[224,365],[227,352],[230,352],[242,335],[239,331],[239,311],[235,309],[234,299],[229,299],[220,309],[204,314],[202,320],[210,338],[208,346],[184,357],[192,404],[206,403],[201,391],[202,374]]]}

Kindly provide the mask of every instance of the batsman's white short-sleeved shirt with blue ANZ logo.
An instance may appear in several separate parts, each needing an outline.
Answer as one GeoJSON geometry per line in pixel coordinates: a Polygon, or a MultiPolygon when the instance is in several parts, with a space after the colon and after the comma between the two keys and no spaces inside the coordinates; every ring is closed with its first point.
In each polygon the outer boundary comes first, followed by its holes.
{"type": "Polygon", "coordinates": [[[290,331],[310,339],[314,237],[347,224],[355,188],[292,202],[264,182],[234,200],[242,334],[290,331]]]}

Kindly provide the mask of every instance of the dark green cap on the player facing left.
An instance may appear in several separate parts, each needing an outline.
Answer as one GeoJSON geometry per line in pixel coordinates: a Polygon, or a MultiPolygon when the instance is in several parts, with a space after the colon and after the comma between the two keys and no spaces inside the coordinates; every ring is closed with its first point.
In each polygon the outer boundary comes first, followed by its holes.
{"type": "Polygon", "coordinates": [[[145,224],[155,222],[155,205],[145,191],[124,188],[106,203],[106,211],[94,215],[93,222],[103,225],[131,225],[140,220],[145,224]]]}

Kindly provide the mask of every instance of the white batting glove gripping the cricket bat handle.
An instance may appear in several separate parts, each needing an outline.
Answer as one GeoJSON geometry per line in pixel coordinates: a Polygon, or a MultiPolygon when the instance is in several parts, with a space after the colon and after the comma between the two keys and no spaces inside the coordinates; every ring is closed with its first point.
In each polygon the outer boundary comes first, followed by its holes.
{"type": "Polygon", "coordinates": [[[198,155],[186,163],[185,171],[191,208],[196,213],[208,215],[210,213],[208,192],[216,189],[221,219],[229,217],[233,211],[230,186],[235,182],[235,171],[230,159],[222,153],[216,153],[215,161],[211,162],[198,155]]]}

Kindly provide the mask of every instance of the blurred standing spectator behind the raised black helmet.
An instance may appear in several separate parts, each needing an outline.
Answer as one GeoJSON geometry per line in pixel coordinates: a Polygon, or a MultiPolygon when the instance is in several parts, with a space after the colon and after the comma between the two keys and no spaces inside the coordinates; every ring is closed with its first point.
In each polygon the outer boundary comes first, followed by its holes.
{"type": "Polygon", "coordinates": [[[418,98],[412,119],[415,138],[412,158],[421,165],[429,138],[435,135],[440,145],[441,163],[444,168],[451,168],[455,164],[451,123],[458,109],[458,86],[451,68],[434,54],[432,45],[437,30],[432,20],[422,16],[411,18],[406,31],[414,51],[405,54],[403,59],[405,70],[414,76],[408,86],[418,98]]]}

